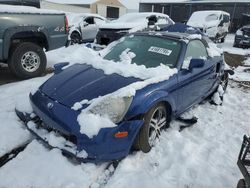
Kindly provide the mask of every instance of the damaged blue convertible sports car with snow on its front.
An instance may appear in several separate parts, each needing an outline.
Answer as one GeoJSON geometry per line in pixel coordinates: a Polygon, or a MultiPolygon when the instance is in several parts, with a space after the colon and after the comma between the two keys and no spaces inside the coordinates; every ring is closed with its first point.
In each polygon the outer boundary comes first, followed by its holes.
{"type": "MultiPolygon", "coordinates": [[[[149,152],[172,119],[211,96],[220,84],[226,89],[228,76],[224,71],[223,55],[214,56],[209,51],[213,49],[202,37],[138,32],[117,43],[104,59],[119,64],[117,61],[126,49],[136,54],[132,63],[146,68],[165,64],[176,73],[169,79],[146,84],[133,96],[101,101],[90,110],[98,117],[108,117],[116,126],[100,128],[90,137],[81,132],[78,116],[88,108],[88,101],[143,79],[119,73],[106,74],[91,64],[74,64],[66,69],[62,69],[64,64],[57,65],[55,75],[30,94],[33,113],[29,115],[17,110],[17,115],[51,148],[60,148],[63,153],[83,161],[118,160],[132,149],[149,152]],[[72,108],[83,100],[87,102],[78,109],[72,108]],[[46,134],[53,132],[56,138],[60,135],[64,142],[58,145],[41,130],[46,130],[46,134]]],[[[87,122],[85,126],[91,129],[93,125],[87,122]]]]}

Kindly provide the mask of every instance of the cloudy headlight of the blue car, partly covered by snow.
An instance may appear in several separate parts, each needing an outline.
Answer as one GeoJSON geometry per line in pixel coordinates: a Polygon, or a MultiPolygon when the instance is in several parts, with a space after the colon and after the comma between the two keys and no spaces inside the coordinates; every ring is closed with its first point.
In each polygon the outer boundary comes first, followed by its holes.
{"type": "Polygon", "coordinates": [[[93,114],[108,116],[114,123],[119,123],[127,113],[133,97],[106,98],[89,109],[93,114]]]}

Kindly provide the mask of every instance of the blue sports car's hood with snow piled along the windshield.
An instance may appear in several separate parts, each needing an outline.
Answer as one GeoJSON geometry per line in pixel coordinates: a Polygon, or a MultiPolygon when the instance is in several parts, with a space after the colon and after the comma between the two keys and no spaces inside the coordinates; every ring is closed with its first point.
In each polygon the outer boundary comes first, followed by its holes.
{"type": "Polygon", "coordinates": [[[177,72],[166,65],[146,68],[144,65],[132,63],[135,54],[128,50],[121,54],[120,62],[105,60],[86,47],[75,53],[81,54],[78,57],[81,59],[79,64],[69,65],[40,87],[47,96],[68,107],[82,100],[92,100],[114,93],[121,88],[125,88],[120,92],[121,95],[135,95],[136,90],[167,80],[177,72]]]}

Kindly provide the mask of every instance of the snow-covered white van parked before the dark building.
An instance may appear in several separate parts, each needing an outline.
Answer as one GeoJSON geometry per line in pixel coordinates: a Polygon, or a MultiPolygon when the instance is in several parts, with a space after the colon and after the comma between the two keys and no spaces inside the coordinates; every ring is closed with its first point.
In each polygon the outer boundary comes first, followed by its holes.
{"type": "Polygon", "coordinates": [[[224,42],[230,26],[230,14],[218,10],[196,11],[187,25],[199,28],[215,42],[224,42]]]}

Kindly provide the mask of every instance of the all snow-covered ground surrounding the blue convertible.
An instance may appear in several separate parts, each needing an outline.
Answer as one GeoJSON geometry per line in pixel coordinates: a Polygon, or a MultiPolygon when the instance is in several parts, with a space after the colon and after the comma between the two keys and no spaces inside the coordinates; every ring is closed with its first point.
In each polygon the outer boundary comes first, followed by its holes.
{"type": "MultiPolygon", "coordinates": [[[[219,47],[234,54],[250,54],[250,50],[233,48],[232,42],[233,35],[229,35],[219,47]]],[[[47,56],[52,65],[78,62],[87,54],[89,49],[74,45],[47,56]]],[[[195,115],[198,123],[179,132],[181,123],[173,121],[150,153],[132,153],[121,161],[113,176],[113,168],[105,169],[105,163],[78,164],[59,150],[48,150],[33,140],[0,168],[0,188],[236,187],[241,178],[237,157],[242,137],[250,131],[250,88],[239,81],[250,81],[249,65],[250,59],[235,69],[223,105],[205,102],[192,108],[185,115],[195,115]]],[[[14,109],[28,103],[29,93],[50,76],[0,86],[0,156],[32,139],[14,109]]]]}

